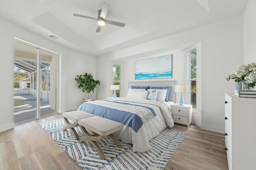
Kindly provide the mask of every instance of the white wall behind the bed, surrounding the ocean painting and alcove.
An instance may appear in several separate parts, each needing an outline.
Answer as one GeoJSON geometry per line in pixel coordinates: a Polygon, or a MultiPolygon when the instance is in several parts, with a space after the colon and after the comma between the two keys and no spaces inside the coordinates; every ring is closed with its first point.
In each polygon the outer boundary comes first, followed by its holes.
{"type": "MultiPolygon", "coordinates": [[[[173,80],[186,82],[186,53],[174,51],[184,44],[202,43],[202,129],[224,132],[224,92],[234,92],[234,82],[226,81],[237,65],[243,63],[243,17],[202,27],[156,39],[141,45],[116,51],[99,57],[98,77],[107,82],[107,61],[123,61],[122,84],[127,88],[128,81],[134,81],[134,61],[172,53],[173,80]]],[[[189,46],[186,46],[189,47],[189,46]]],[[[185,48],[184,48],[185,49],[185,48]]],[[[100,87],[99,99],[106,98],[100,87]]],[[[124,89],[124,88],[122,88],[124,89]]],[[[127,90],[126,90],[127,91],[127,90]]],[[[124,93],[126,94],[126,93],[124,93]]],[[[122,96],[124,96],[122,94],[122,96]]]]}

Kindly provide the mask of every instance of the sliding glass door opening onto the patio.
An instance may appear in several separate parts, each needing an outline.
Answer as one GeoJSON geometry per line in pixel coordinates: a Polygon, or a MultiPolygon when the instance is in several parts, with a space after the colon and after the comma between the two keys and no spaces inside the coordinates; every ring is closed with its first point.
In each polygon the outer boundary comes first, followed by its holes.
{"type": "Polygon", "coordinates": [[[56,54],[14,43],[14,123],[56,113],[56,54]]]}

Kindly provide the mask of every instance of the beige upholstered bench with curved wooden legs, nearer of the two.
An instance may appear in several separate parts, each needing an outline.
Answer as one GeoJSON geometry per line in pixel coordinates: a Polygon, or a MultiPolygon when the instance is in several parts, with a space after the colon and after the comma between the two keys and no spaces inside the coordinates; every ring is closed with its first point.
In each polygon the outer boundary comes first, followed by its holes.
{"type": "Polygon", "coordinates": [[[100,158],[102,159],[106,158],[105,154],[100,148],[100,145],[96,142],[102,137],[109,136],[110,138],[113,139],[113,141],[116,143],[116,145],[119,148],[122,148],[122,145],[120,144],[118,139],[116,139],[116,137],[112,135],[112,133],[119,131],[124,127],[122,123],[112,121],[110,119],[106,119],[100,116],[93,116],[93,117],[88,117],[85,119],[78,120],[78,124],[82,132],[86,136],[80,139],[79,142],[80,143],[83,141],[90,142],[94,146],[94,148],[97,150],[100,158]],[[93,134],[88,133],[86,129],[90,129],[93,132],[93,134]]]}

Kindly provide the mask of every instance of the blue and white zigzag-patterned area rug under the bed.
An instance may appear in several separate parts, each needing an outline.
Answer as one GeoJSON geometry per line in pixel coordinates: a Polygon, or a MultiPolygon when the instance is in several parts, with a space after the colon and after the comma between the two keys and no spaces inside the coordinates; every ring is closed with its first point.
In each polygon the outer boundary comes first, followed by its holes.
{"type": "MultiPolygon", "coordinates": [[[[132,145],[120,142],[122,149],[118,148],[110,137],[98,141],[106,159],[102,160],[98,152],[90,143],[79,143],[74,139],[63,119],[38,123],[68,155],[73,158],[84,170],[161,170],[164,169],[175,150],[186,136],[186,133],[164,129],[160,135],[150,141],[152,150],[137,153],[132,151],[132,145]]],[[[78,136],[84,137],[80,127],[76,127],[78,136]]]]}

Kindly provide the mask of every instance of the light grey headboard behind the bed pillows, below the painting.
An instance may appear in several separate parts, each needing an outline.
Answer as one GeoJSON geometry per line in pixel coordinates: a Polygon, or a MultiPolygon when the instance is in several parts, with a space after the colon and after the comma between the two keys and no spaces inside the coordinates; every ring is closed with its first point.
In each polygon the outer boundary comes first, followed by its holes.
{"type": "Polygon", "coordinates": [[[154,86],[154,87],[166,87],[166,86],[172,86],[170,89],[170,93],[168,96],[168,100],[172,102],[176,102],[176,94],[175,94],[175,84],[177,84],[177,80],[172,80],[172,81],[147,81],[147,82],[129,82],[129,88],[131,86],[154,86]]]}

